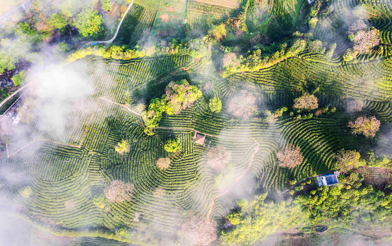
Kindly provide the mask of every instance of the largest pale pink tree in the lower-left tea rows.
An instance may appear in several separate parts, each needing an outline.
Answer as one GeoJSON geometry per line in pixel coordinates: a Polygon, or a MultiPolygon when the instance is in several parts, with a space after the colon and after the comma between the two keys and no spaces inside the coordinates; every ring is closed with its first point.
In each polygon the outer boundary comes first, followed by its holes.
{"type": "Polygon", "coordinates": [[[103,191],[106,199],[110,202],[123,202],[131,200],[131,192],[133,185],[131,183],[125,183],[121,180],[114,180],[110,185],[103,191]]]}

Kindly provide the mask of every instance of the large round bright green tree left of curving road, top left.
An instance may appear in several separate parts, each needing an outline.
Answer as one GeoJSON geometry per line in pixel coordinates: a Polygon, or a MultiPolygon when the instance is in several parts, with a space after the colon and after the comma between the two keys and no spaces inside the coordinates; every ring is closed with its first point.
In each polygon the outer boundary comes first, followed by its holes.
{"type": "Polygon", "coordinates": [[[74,25],[83,37],[98,37],[102,31],[102,16],[94,9],[83,9],[74,20],[74,25]]]}

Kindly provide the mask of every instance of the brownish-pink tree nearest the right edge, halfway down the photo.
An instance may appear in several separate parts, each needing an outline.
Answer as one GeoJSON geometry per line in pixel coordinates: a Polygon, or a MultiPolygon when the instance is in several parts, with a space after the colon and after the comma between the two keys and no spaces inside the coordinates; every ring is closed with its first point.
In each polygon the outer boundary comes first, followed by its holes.
{"type": "Polygon", "coordinates": [[[352,128],[352,133],[363,134],[365,137],[374,137],[380,129],[380,121],[375,116],[366,117],[361,115],[355,122],[349,122],[348,126],[352,128]]]}

